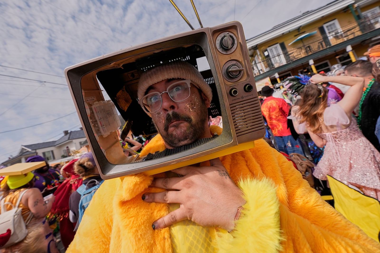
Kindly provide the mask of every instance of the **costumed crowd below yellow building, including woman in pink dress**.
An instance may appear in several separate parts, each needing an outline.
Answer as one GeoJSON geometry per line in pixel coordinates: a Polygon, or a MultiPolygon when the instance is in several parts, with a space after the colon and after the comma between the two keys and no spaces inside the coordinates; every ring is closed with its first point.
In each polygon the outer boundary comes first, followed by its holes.
{"type": "Polygon", "coordinates": [[[295,101],[287,96],[286,88],[281,90],[283,97],[274,98],[274,89],[265,86],[261,107],[279,151],[299,153],[313,161],[316,179],[327,180],[330,175],[380,200],[380,71],[376,64],[380,57],[373,56],[379,52],[380,46],[372,47],[366,52],[368,60],[350,63],[339,75],[314,74],[297,86],[285,81],[295,101]],[[348,87],[344,92],[337,87],[342,85],[348,87]],[[296,90],[291,89],[294,86],[296,90]],[[286,149],[284,139],[290,139],[285,141],[286,149]],[[301,149],[293,148],[297,146],[301,149]],[[320,152],[315,152],[315,146],[320,152]]]}

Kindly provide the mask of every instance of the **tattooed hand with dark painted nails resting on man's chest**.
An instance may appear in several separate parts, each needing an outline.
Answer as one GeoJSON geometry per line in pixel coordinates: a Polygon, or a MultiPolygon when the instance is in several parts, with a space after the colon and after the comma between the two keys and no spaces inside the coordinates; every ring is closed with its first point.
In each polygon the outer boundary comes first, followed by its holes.
{"type": "Polygon", "coordinates": [[[242,191],[235,185],[219,158],[211,166],[185,166],[173,172],[182,177],[153,180],[150,187],[168,191],[145,193],[146,202],[179,203],[180,207],[154,221],[154,229],[168,227],[177,221],[192,220],[205,227],[234,228],[238,207],[245,203],[242,191]]]}

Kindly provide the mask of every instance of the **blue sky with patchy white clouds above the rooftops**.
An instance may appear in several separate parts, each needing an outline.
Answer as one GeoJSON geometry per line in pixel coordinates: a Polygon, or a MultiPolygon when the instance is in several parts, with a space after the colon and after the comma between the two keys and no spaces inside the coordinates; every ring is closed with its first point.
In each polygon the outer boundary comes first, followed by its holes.
{"type": "MultiPolygon", "coordinates": [[[[175,2],[198,28],[190,1],[175,2]]],[[[194,0],[204,27],[240,21],[247,39],[329,2],[194,0]]],[[[0,0],[0,163],[79,129],[66,67],[188,30],[168,0],[0,0]]]]}

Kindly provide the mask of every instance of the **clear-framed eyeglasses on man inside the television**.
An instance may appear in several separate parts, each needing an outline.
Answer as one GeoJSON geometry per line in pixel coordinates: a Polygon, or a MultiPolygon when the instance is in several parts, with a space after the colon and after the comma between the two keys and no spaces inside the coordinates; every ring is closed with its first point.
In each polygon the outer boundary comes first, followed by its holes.
{"type": "Polygon", "coordinates": [[[169,85],[168,89],[164,92],[151,92],[145,95],[139,104],[142,109],[147,113],[157,112],[162,106],[162,94],[168,93],[171,100],[174,102],[181,102],[190,96],[190,83],[191,80],[181,80],[169,85]]]}

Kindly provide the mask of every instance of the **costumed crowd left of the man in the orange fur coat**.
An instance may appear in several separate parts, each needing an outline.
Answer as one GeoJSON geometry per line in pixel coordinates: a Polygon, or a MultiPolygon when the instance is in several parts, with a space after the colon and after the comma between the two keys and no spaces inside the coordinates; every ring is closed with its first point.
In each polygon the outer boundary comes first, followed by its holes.
{"type": "Polygon", "coordinates": [[[26,160],[27,163],[41,161],[46,165],[27,174],[5,176],[1,181],[1,213],[20,208],[28,231],[24,239],[7,247],[3,246],[9,240],[8,235],[1,235],[3,253],[58,253],[55,239],[58,232],[67,248],[74,239],[76,224],[79,225],[78,217],[81,218],[88,206],[80,200],[84,196],[90,200],[94,193],[81,189],[103,182],[91,152],[56,168],[39,155],[26,160]]]}

